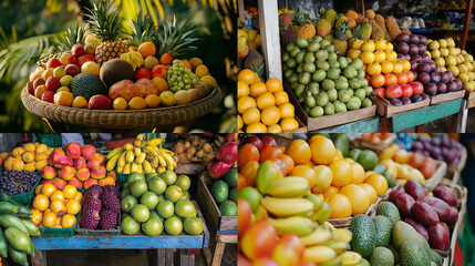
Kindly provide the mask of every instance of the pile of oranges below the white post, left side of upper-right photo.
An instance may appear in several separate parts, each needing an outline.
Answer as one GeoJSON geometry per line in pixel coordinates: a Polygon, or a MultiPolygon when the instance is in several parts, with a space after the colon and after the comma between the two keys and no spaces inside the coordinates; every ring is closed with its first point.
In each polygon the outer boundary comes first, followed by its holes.
{"type": "Polygon", "coordinates": [[[296,130],[295,108],[278,79],[264,83],[254,71],[238,74],[239,133],[280,133],[296,130]]]}

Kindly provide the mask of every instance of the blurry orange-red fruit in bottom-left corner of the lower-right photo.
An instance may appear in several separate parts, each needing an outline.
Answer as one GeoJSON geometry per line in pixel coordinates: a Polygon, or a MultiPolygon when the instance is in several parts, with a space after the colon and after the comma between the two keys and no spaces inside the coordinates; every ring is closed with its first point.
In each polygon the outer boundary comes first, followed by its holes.
{"type": "Polygon", "coordinates": [[[251,260],[270,257],[277,244],[277,231],[269,222],[260,219],[252,224],[239,241],[244,255],[251,260]]]}

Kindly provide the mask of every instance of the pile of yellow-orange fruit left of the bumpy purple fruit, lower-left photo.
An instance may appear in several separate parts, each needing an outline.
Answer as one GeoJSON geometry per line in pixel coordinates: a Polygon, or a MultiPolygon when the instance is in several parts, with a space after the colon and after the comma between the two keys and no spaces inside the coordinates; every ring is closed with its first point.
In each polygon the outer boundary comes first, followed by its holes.
{"type": "Polygon", "coordinates": [[[33,198],[31,221],[39,228],[72,228],[81,212],[82,193],[72,185],[62,191],[53,184],[39,185],[33,198]]]}

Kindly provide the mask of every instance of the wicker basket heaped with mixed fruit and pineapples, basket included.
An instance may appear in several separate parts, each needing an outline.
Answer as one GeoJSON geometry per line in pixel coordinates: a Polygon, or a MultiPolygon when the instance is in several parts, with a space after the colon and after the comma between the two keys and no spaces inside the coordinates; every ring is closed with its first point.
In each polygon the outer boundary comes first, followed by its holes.
{"type": "Polygon", "coordinates": [[[220,101],[216,80],[202,59],[184,58],[196,50],[193,22],[165,21],[163,33],[158,33],[152,18],[141,14],[128,21],[133,32],[125,33],[112,2],[93,4],[86,17],[84,24],[68,31],[65,50],[43,57],[31,73],[22,91],[22,102],[30,112],[56,122],[126,129],[176,124],[183,121],[159,117],[183,112],[187,115],[180,119],[190,120],[220,101]],[[102,114],[114,121],[86,123],[80,117],[97,115],[99,110],[110,110],[102,114]],[[69,117],[54,115],[60,111],[69,117]],[[131,121],[118,123],[118,114],[131,121]]]}

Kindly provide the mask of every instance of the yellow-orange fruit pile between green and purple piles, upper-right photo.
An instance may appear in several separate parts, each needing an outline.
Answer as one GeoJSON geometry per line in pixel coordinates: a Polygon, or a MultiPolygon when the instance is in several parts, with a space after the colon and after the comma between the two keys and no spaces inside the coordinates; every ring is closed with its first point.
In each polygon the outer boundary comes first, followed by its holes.
{"type": "Polygon", "coordinates": [[[414,73],[410,71],[411,62],[397,59],[397,53],[393,49],[393,44],[383,39],[355,40],[351,43],[348,57],[363,61],[368,83],[374,90],[414,81],[414,73]]]}

